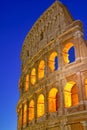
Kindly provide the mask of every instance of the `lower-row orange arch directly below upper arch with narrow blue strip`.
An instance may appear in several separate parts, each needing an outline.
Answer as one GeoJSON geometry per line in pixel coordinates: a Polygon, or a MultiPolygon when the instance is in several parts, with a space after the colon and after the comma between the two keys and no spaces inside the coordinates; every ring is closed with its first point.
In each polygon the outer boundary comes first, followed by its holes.
{"type": "Polygon", "coordinates": [[[49,112],[57,111],[58,104],[58,90],[56,88],[52,88],[48,95],[49,112]]]}

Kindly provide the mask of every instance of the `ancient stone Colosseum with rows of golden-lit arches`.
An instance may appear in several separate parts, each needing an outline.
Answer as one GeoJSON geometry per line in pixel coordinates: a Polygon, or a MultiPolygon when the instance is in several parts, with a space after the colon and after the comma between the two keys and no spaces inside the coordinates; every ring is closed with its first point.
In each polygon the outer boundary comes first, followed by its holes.
{"type": "Polygon", "coordinates": [[[21,61],[17,130],[87,130],[87,42],[61,2],[33,25],[21,61]]]}

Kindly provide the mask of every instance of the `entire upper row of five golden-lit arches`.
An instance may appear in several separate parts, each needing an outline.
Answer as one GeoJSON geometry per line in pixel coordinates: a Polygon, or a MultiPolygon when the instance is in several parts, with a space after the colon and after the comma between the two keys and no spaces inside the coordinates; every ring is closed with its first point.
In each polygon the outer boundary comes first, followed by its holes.
{"type": "MultiPolygon", "coordinates": [[[[65,64],[71,64],[75,61],[75,49],[73,43],[67,43],[62,51],[63,60],[65,64]]],[[[44,59],[39,61],[37,68],[33,66],[30,70],[30,73],[25,76],[25,85],[24,91],[27,91],[29,88],[29,84],[35,85],[37,79],[40,81],[46,76],[46,68],[49,68],[50,73],[54,71],[58,71],[59,68],[59,56],[56,51],[53,51],[48,59],[47,63],[45,63],[44,59]],[[37,75],[38,74],[38,75],[37,75]]]]}

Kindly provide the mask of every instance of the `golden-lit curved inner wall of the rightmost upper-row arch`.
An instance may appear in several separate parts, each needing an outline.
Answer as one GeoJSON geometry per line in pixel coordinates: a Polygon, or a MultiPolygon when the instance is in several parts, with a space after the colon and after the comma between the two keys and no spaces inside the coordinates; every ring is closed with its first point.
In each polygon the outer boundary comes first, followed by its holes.
{"type": "Polygon", "coordinates": [[[70,48],[73,47],[73,43],[67,43],[63,49],[63,58],[64,58],[64,62],[65,63],[69,63],[69,54],[68,51],[70,50],[70,48]]]}

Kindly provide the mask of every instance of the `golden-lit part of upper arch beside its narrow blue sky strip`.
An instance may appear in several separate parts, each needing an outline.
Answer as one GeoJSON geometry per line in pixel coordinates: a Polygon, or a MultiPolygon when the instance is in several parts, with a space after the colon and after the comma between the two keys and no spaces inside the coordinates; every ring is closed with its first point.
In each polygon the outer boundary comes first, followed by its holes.
{"type": "Polygon", "coordinates": [[[56,52],[53,52],[49,57],[49,68],[53,72],[55,70],[55,57],[57,56],[56,52]]]}

